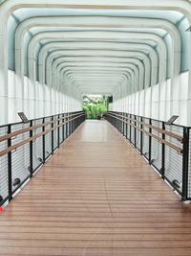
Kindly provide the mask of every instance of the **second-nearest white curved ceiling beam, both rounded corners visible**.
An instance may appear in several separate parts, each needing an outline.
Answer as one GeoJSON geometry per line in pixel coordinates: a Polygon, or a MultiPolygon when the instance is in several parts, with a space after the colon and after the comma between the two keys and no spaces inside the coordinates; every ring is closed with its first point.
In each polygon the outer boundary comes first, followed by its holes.
{"type": "MultiPolygon", "coordinates": [[[[162,29],[166,31],[172,37],[172,51],[175,53],[175,58],[172,59],[172,63],[176,63],[174,66],[175,75],[180,72],[180,32],[177,27],[167,20],[162,19],[145,19],[145,18],[126,18],[126,17],[103,17],[99,16],[97,19],[91,16],[80,17],[77,16],[77,24],[75,16],[73,17],[32,17],[26,19],[19,24],[15,33],[15,49],[23,49],[21,41],[23,41],[24,35],[32,27],[43,26],[67,26],[67,27],[105,27],[105,28],[146,28],[146,29],[162,29]],[[51,20],[53,21],[51,22],[51,20]],[[62,24],[63,22],[63,24],[62,24]],[[67,25],[66,25],[67,24],[67,25]],[[89,25],[87,25],[89,24],[89,25]],[[139,25],[141,24],[141,26],[139,25]]],[[[19,57],[17,57],[19,58],[19,57]]],[[[22,59],[21,59],[22,60],[22,59]]],[[[22,61],[21,61],[22,62],[22,61]]],[[[172,69],[172,68],[171,68],[172,69]]]]}

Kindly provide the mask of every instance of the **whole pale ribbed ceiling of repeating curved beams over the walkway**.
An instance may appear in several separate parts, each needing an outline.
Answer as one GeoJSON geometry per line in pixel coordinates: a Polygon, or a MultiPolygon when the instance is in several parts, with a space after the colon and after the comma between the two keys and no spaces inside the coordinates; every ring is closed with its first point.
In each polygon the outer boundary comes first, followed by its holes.
{"type": "Polygon", "coordinates": [[[18,83],[28,76],[68,94],[123,97],[189,69],[189,1],[0,3],[18,83]]]}

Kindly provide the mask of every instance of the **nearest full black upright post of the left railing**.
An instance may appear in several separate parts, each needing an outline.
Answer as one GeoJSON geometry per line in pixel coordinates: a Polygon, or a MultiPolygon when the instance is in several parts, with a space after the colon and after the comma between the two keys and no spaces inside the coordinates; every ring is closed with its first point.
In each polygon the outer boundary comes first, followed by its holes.
{"type": "MultiPolygon", "coordinates": [[[[11,125],[8,126],[8,133],[11,133],[11,125]]],[[[8,139],[8,148],[11,147],[11,138],[8,139]]],[[[8,153],[8,191],[9,201],[12,199],[12,185],[11,185],[11,151],[8,153]]]]}

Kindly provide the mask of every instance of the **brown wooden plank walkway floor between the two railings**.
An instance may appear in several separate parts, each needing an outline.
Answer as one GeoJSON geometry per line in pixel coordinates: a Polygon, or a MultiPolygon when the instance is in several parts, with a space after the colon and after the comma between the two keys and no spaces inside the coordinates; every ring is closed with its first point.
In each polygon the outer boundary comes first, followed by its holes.
{"type": "Polygon", "coordinates": [[[117,131],[86,121],[0,215],[0,255],[191,255],[191,209],[117,131]]]}

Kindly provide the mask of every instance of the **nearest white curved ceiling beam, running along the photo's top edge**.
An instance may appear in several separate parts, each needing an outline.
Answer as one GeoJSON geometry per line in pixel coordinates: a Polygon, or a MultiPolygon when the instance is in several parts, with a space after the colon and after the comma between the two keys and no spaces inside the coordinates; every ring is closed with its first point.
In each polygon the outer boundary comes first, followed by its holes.
{"type": "MultiPolygon", "coordinates": [[[[160,1],[153,1],[147,0],[142,2],[141,0],[134,1],[134,0],[118,0],[117,5],[115,3],[111,4],[108,1],[92,1],[91,5],[87,1],[80,2],[73,1],[73,4],[68,0],[64,3],[60,0],[55,0],[54,2],[45,1],[45,0],[34,0],[32,3],[27,3],[24,0],[14,0],[14,1],[6,1],[0,10],[0,15],[2,17],[2,24],[0,26],[0,52],[2,52],[2,57],[0,61],[0,70],[7,72],[8,68],[8,59],[7,59],[7,48],[4,47],[4,40],[7,38],[6,29],[7,29],[7,21],[8,17],[11,12],[17,10],[19,8],[73,8],[73,9],[95,9],[95,10],[169,10],[169,11],[177,11],[182,12],[189,20],[191,21],[191,7],[187,1],[178,1],[178,0],[160,0],[160,1]]],[[[189,55],[189,53],[188,53],[189,55]]],[[[2,85],[5,88],[7,76],[2,78],[1,76],[2,85]]]]}

